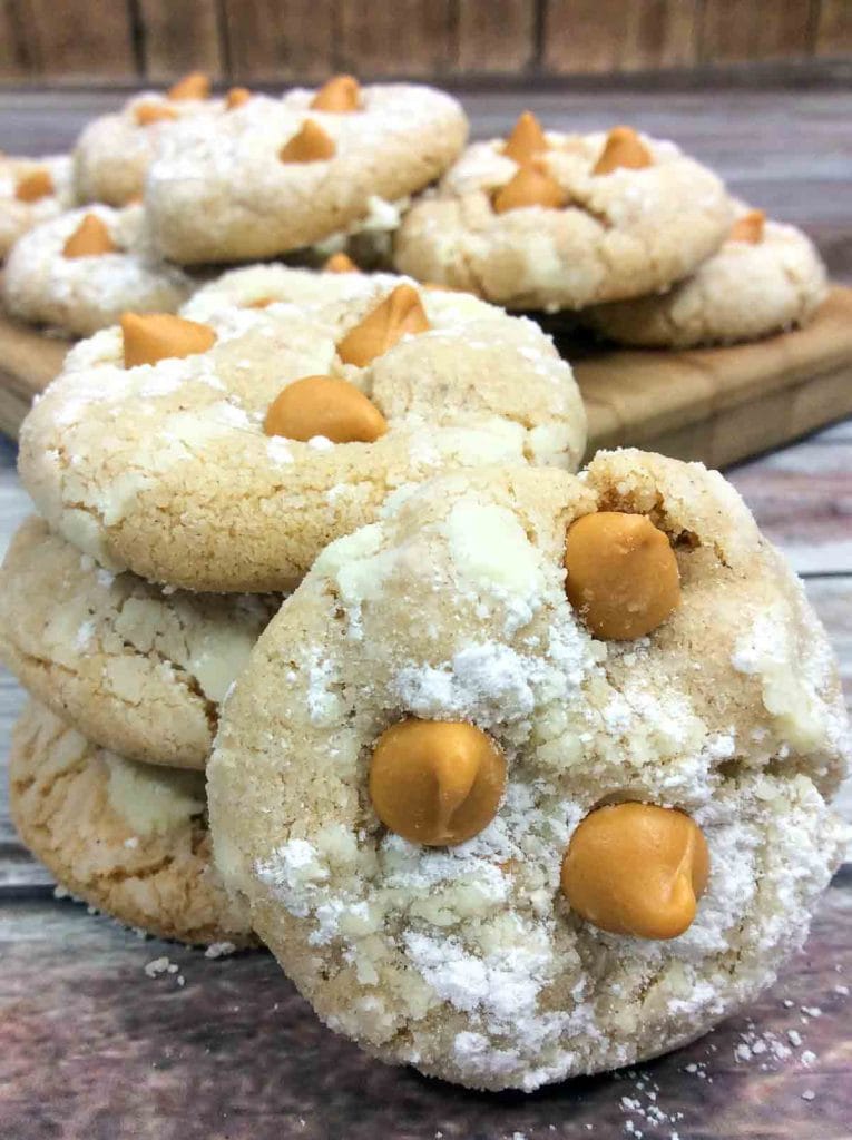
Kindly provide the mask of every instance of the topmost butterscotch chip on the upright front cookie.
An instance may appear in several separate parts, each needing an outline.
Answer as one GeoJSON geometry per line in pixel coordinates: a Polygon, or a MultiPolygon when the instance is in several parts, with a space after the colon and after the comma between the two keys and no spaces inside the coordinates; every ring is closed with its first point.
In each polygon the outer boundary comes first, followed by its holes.
{"type": "Polygon", "coordinates": [[[577,519],[565,567],[568,600],[598,637],[643,637],[680,605],[674,551],[646,515],[598,511],[577,519]]]}

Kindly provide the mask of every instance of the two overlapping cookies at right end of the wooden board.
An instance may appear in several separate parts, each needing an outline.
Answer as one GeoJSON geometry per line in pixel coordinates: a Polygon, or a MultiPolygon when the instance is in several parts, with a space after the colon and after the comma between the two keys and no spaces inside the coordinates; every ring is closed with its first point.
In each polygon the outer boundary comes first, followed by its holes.
{"type": "Polygon", "coordinates": [[[766,221],[672,142],[544,131],[473,142],[406,214],[396,266],[510,309],[579,312],[619,344],[692,348],[806,324],[826,296],[808,237],[766,221]]]}

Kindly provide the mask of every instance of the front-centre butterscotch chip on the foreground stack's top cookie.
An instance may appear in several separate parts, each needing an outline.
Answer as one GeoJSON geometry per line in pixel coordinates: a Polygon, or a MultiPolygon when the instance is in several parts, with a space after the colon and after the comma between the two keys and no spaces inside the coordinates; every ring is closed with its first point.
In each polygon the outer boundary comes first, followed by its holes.
{"type": "Polygon", "coordinates": [[[317,435],[332,443],[372,443],[388,421],[367,397],[335,376],[305,376],[275,398],[263,421],[267,435],[307,442],[317,435]]]}

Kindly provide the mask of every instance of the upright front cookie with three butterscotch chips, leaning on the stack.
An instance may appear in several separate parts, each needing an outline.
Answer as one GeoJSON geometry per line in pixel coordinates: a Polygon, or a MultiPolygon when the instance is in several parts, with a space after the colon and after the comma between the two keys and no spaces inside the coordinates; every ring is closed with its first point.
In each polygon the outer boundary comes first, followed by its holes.
{"type": "Polygon", "coordinates": [[[454,473],[330,545],[255,645],[208,765],[214,858],[332,1028],[532,1090],[773,980],[839,858],[845,728],[825,633],[717,473],[454,473]]]}

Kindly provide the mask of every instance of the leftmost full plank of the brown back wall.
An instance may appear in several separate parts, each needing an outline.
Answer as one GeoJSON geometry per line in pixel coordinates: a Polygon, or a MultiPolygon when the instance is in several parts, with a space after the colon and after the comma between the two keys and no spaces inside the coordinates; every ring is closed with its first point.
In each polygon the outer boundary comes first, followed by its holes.
{"type": "Polygon", "coordinates": [[[130,8],[123,0],[74,0],[64,13],[55,0],[17,0],[26,52],[39,76],[86,82],[137,78],[130,8]]]}

